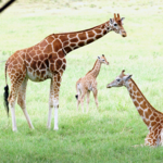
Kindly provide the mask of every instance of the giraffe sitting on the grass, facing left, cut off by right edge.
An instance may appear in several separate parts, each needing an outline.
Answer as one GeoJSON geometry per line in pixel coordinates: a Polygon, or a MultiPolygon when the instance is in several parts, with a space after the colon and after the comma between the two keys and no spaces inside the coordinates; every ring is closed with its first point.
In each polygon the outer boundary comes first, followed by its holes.
{"type": "Polygon", "coordinates": [[[155,110],[146,97],[142,95],[136,83],[131,79],[131,75],[125,75],[122,71],[121,75],[106,88],[125,86],[128,89],[130,98],[139,112],[142,121],[149,129],[149,134],[145,139],[146,146],[159,146],[163,142],[163,113],[155,110]]]}

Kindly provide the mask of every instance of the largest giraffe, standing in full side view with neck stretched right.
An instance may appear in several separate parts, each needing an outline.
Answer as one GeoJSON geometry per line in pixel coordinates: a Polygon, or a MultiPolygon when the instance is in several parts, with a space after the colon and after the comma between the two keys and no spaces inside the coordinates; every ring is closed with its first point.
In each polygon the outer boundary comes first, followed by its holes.
{"type": "Polygon", "coordinates": [[[51,79],[51,84],[47,127],[50,128],[51,126],[51,113],[54,108],[54,129],[58,129],[59,92],[61,78],[66,67],[65,55],[112,30],[126,37],[123,20],[124,17],[121,18],[120,14],[117,16],[114,14],[114,18],[110,18],[110,21],[86,30],[49,35],[39,43],[18,50],[8,59],[5,63],[5,83],[8,71],[11,79],[11,92],[8,98],[9,89],[7,84],[4,101],[7,102],[8,111],[8,104],[11,108],[12,129],[14,131],[17,130],[15,121],[15,100],[17,95],[17,103],[22,108],[29,127],[34,128],[25,103],[27,82],[28,79],[43,82],[48,78],[51,79]]]}

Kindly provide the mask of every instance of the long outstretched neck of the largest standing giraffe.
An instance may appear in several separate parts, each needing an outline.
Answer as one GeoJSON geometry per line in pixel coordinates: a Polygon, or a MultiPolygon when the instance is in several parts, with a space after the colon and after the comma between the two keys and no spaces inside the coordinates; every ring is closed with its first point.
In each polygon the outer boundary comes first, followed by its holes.
{"type": "Polygon", "coordinates": [[[60,34],[59,39],[62,41],[64,53],[68,53],[79,47],[93,42],[111,30],[112,28],[108,21],[99,26],[86,30],[60,34]]]}

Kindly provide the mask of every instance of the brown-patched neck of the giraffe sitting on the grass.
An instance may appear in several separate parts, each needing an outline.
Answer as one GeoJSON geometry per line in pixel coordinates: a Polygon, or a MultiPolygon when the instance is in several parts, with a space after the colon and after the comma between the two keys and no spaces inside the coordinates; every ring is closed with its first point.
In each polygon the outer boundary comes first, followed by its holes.
{"type": "Polygon", "coordinates": [[[163,117],[163,114],[149,103],[149,101],[146,99],[146,97],[142,95],[133,79],[129,79],[129,84],[126,87],[137,111],[139,112],[139,115],[141,116],[148,128],[151,129],[156,125],[156,122],[160,121],[159,116],[163,117]]]}

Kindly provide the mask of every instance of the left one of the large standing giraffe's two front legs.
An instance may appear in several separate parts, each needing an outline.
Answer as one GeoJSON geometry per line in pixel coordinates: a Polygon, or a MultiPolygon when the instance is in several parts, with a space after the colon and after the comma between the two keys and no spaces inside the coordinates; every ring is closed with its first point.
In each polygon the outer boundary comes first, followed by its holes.
{"type": "Polygon", "coordinates": [[[49,129],[51,127],[51,114],[53,109],[53,102],[54,102],[54,90],[53,90],[53,79],[51,79],[50,93],[49,93],[49,114],[48,114],[48,123],[47,123],[47,127],[49,129]]]}

